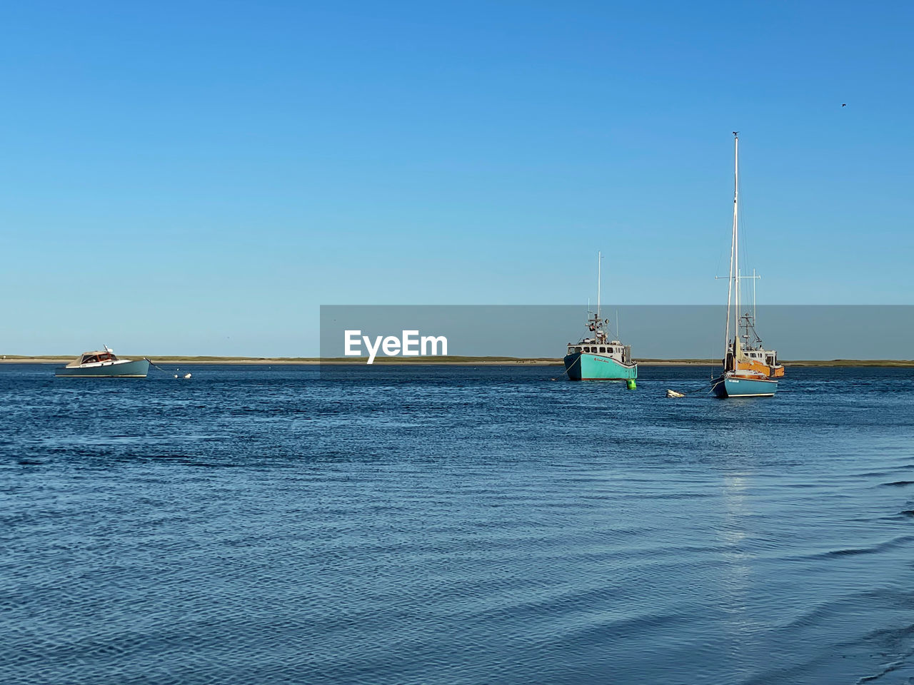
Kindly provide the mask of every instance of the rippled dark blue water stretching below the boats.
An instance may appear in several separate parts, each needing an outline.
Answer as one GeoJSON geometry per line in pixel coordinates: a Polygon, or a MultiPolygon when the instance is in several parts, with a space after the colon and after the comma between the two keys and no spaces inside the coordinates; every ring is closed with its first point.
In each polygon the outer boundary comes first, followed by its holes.
{"type": "Polygon", "coordinates": [[[192,371],[0,365],[3,683],[914,682],[911,370],[192,371]]]}

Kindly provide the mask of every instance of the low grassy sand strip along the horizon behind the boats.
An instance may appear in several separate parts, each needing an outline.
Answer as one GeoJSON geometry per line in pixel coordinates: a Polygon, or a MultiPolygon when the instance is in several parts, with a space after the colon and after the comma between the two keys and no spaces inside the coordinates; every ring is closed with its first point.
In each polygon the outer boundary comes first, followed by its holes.
{"type": "MultiPolygon", "coordinates": [[[[321,360],[317,357],[145,357],[143,354],[124,354],[124,359],[150,359],[153,364],[263,364],[263,365],[306,365],[319,364],[366,364],[365,357],[360,358],[333,358],[321,360]]],[[[21,356],[5,355],[0,358],[0,364],[69,364],[72,356],[21,356]]],[[[635,360],[642,366],[717,366],[720,361],[710,359],[639,359],[635,360]]],[[[453,366],[560,366],[561,359],[518,359],[514,357],[426,357],[419,359],[404,359],[403,357],[378,357],[376,365],[408,366],[414,364],[434,365],[447,364],[453,366]]],[[[882,366],[909,368],[914,367],[914,360],[896,359],[831,359],[831,360],[797,360],[784,361],[785,366],[806,367],[841,367],[841,366],[882,366]]]]}

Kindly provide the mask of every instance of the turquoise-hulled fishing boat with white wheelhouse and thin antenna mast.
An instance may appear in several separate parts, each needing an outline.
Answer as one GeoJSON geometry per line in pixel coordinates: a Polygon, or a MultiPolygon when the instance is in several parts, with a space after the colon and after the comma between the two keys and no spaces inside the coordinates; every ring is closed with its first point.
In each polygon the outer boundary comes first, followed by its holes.
{"type": "MultiPolygon", "coordinates": [[[[597,311],[588,311],[587,328],[579,342],[569,342],[565,356],[565,372],[572,381],[634,381],[638,377],[638,364],[632,362],[632,346],[610,340],[607,332],[609,321],[600,319],[600,263],[597,253],[597,311]]],[[[590,308],[588,308],[590,309],[590,308]]],[[[616,326],[618,334],[619,326],[616,326]]],[[[630,383],[633,387],[633,385],[630,383]]]]}

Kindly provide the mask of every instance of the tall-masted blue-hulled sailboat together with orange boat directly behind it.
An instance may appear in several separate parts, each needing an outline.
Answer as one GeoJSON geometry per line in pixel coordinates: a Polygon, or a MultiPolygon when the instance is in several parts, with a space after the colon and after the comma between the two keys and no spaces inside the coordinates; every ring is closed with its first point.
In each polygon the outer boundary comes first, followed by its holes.
{"type": "MultiPolygon", "coordinates": [[[[726,353],[724,369],[711,382],[717,397],[771,397],[778,391],[778,379],[784,375],[778,364],[778,353],[767,350],[755,330],[755,301],[752,311],[739,313],[740,279],[758,279],[739,275],[739,132],[733,132],[733,234],[730,241],[730,275],[727,287],[727,327],[724,332],[726,353]],[[732,306],[732,309],[730,305],[732,306]],[[733,314],[733,337],[730,338],[730,313],[733,314]]],[[[753,280],[753,293],[755,281],[753,280]]]]}

